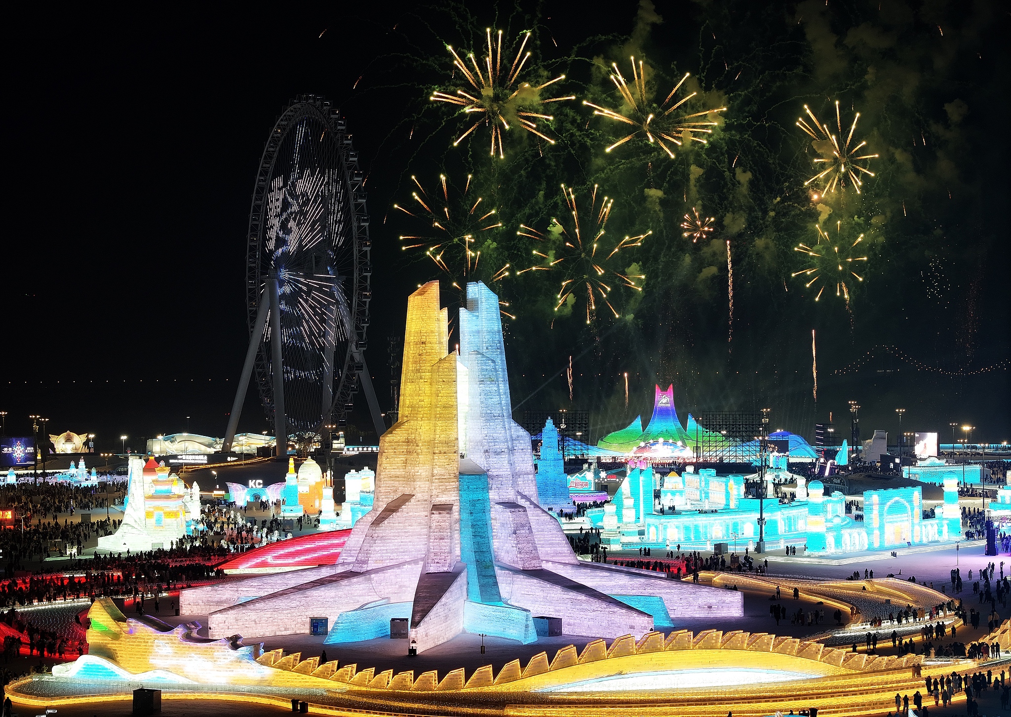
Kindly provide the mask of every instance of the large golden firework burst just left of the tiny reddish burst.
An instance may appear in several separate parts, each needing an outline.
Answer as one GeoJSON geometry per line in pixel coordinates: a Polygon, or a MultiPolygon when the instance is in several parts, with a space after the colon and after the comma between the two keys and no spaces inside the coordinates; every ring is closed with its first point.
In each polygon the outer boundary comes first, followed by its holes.
{"type": "Polygon", "coordinates": [[[556,249],[547,251],[535,249],[534,255],[541,257],[543,263],[517,273],[522,274],[527,271],[560,272],[564,278],[556,296],[555,311],[561,309],[569,297],[572,297],[572,303],[584,297],[586,324],[592,323],[595,319],[599,301],[603,301],[617,319],[620,315],[612,303],[612,290],[616,286],[624,286],[642,291],[641,280],[646,277],[643,274],[623,274],[610,268],[609,263],[617,261],[614,258],[623,249],[641,246],[643,240],[653,232],[649,231],[638,237],[626,237],[620,242],[616,242],[610,250],[605,249],[601,244],[615,200],[605,196],[598,204],[598,186],[594,184],[593,191],[590,193],[589,211],[580,215],[576,206],[575,191],[564,184],[561,186],[562,196],[571,219],[563,222],[552,217],[551,223],[546,230],[547,234],[524,225],[520,225],[520,231],[517,232],[521,237],[530,237],[541,242],[556,240],[559,245],[556,249]]]}

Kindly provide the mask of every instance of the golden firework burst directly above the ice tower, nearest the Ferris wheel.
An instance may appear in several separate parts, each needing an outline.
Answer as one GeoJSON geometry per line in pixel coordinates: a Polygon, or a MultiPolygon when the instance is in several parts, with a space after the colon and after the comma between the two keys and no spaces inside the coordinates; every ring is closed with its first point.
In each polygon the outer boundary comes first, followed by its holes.
{"type": "MultiPolygon", "coordinates": [[[[410,179],[417,187],[410,193],[410,208],[399,204],[393,204],[393,208],[413,217],[424,229],[415,235],[401,235],[400,250],[424,250],[425,255],[453,279],[453,284],[463,290],[462,284],[480,265],[481,252],[473,248],[474,243],[485,233],[494,234],[502,226],[497,210],[487,206],[483,197],[469,193],[473,175],[467,175],[462,192],[445,174],[439,175],[439,185],[431,194],[417,177],[411,175],[410,179]]],[[[509,276],[508,264],[490,279],[497,281],[505,276],[509,276]]]]}

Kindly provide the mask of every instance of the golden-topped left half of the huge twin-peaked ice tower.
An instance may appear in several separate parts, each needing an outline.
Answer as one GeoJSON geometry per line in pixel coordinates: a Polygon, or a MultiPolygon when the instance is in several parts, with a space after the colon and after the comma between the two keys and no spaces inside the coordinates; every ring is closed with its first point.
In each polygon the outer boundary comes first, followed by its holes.
{"type": "Polygon", "coordinates": [[[184,591],[185,614],[207,614],[212,637],[278,635],[308,632],[312,617],[333,625],[341,613],[387,600],[412,603],[419,651],[462,631],[458,367],[447,341],[447,310],[430,282],[407,299],[399,421],[380,439],[375,507],[355,524],[338,564],[251,577],[223,591],[224,600],[220,591],[184,591]]]}

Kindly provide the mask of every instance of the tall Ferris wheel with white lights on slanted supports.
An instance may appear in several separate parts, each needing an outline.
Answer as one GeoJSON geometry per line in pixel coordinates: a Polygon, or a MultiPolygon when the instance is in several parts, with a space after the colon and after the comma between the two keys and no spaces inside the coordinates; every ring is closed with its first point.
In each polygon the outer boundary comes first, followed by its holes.
{"type": "Polygon", "coordinates": [[[250,344],[223,450],[232,448],[252,375],[278,437],[344,425],[359,388],[385,426],[365,363],[371,299],[369,215],[358,155],[340,111],[303,95],[278,118],[250,209],[246,302],[250,344]]]}

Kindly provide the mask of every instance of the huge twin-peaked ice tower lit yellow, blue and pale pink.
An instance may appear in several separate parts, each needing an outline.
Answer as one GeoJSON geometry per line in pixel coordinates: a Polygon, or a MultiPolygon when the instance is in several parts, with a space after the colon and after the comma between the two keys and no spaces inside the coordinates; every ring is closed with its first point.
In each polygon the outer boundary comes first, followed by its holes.
{"type": "Polygon", "coordinates": [[[512,419],[497,296],[467,284],[459,325],[457,357],[438,282],[407,300],[399,421],[380,439],[374,508],[338,564],[184,591],[182,612],[208,615],[212,637],[302,633],[310,617],[340,618],[328,637],[337,642],[356,620],[374,627],[375,608],[388,605],[383,615],[410,616],[419,651],[464,630],[531,641],[535,615],[599,637],[644,634],[654,615],[740,616],[740,593],[576,558],[541,508],[530,435],[512,419]]]}

